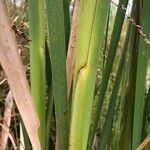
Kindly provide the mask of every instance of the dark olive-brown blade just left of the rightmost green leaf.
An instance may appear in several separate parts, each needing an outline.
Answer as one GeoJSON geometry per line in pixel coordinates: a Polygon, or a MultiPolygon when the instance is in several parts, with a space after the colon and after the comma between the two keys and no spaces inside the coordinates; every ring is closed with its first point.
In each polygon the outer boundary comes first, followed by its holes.
{"type": "MultiPolygon", "coordinates": [[[[134,8],[132,8],[134,9],[134,8]]],[[[138,16],[138,8],[133,10],[133,16],[138,16]]],[[[129,67],[129,79],[127,81],[127,89],[124,98],[122,122],[121,122],[121,135],[120,135],[120,149],[130,150],[132,146],[132,130],[133,130],[133,113],[135,102],[135,83],[136,83],[136,68],[137,68],[137,46],[139,38],[137,30],[134,26],[131,28],[129,43],[129,55],[131,55],[129,67]]]]}

